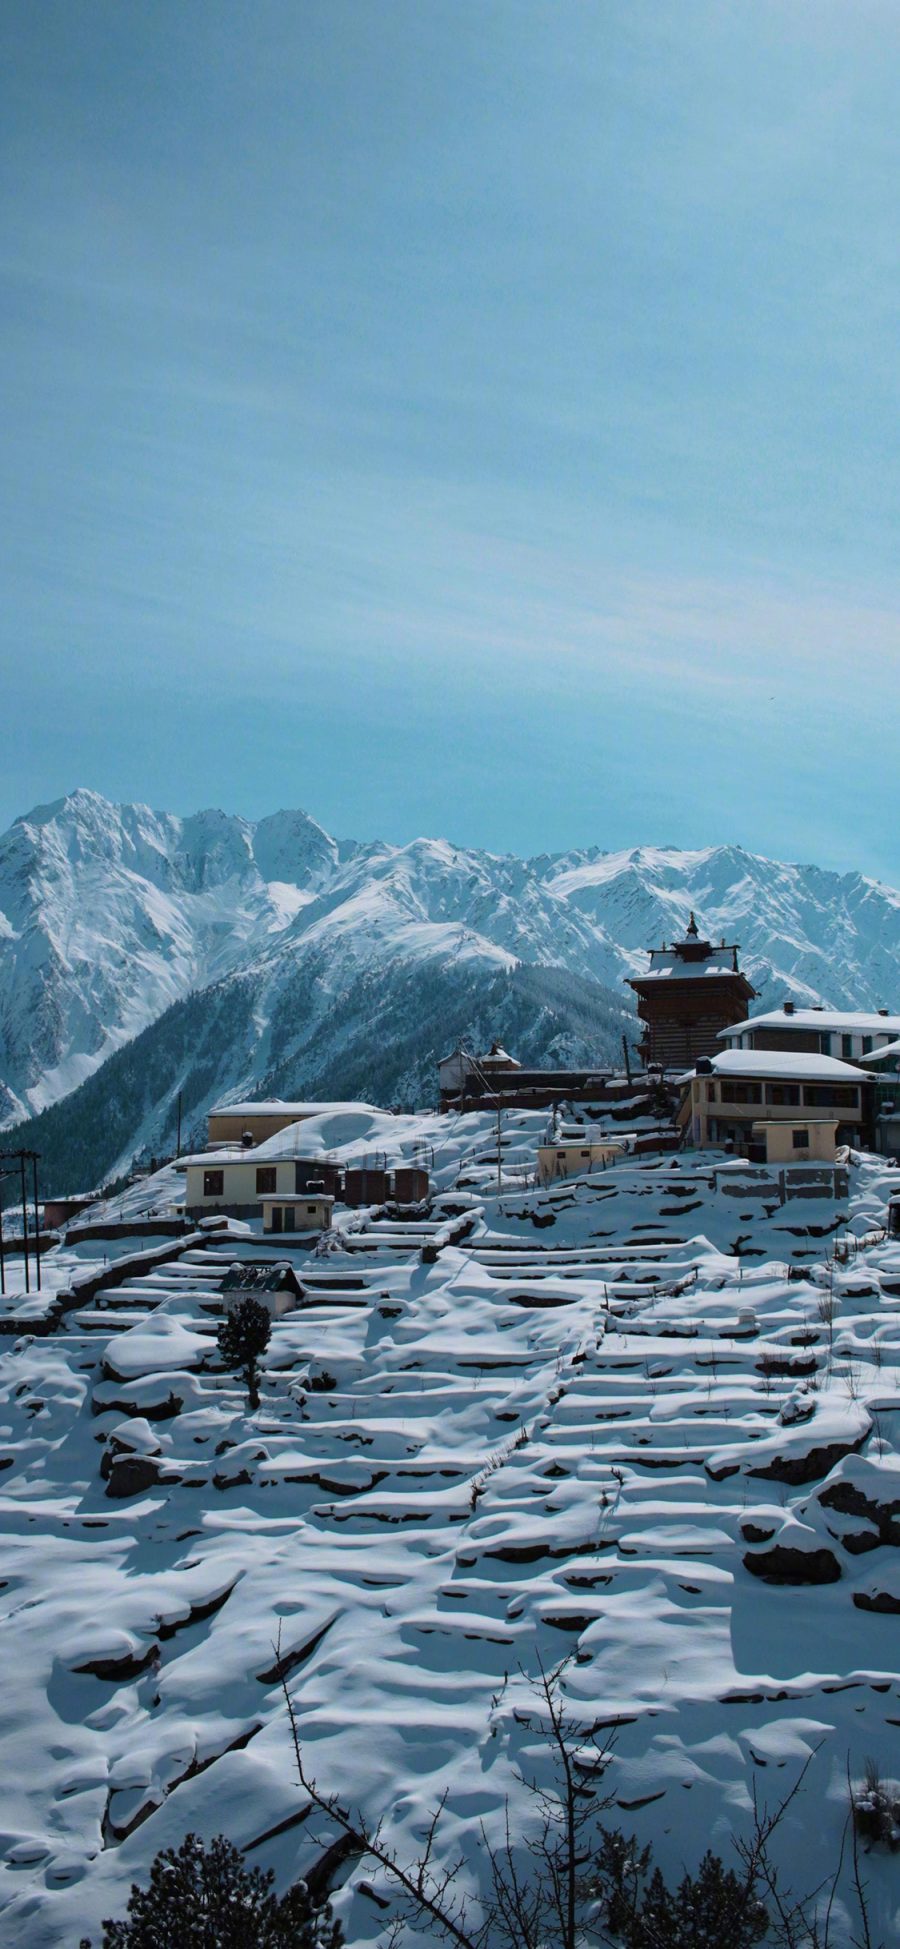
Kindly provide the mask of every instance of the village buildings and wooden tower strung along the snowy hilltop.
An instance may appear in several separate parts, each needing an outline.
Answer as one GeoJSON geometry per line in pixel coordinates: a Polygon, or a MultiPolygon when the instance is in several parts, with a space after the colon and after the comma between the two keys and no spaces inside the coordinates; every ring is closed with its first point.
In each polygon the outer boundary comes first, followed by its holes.
{"type": "MultiPolygon", "coordinates": [[[[162,1171],[154,1160],[154,1218],[228,1220],[259,1242],[302,1245],[362,1210],[421,1216],[434,1193],[440,1130],[475,1113],[493,1119],[499,1191],[528,1193],[639,1160],[688,1166],[701,1152],[744,1197],[826,1199],[838,1208],[855,1152],[900,1154],[900,1013],[791,998],[752,1013],[756,990],[738,951],[705,939],[694,912],[684,939],[649,949],[647,973],[629,978],[641,1033],[633,1045],[623,1037],[619,1070],[524,1068],[497,1043],[481,1054],[454,1049],[438,1060],[440,1117],[429,1136],[409,1140],[409,1117],[370,1103],[222,1099],[208,1113],[203,1150],[168,1160],[162,1171]],[[528,1154],[514,1166],[503,1136],[512,1113],[532,1113],[528,1154]],[[374,1144],[358,1134],[360,1119],[378,1119],[374,1144]],[[335,1142],[325,1144],[323,1132],[335,1142]]],[[[99,1191],[37,1203],[37,1162],[29,1154],[27,1171],[21,1164],[21,1203],[4,1226],[12,1242],[4,1249],[0,1240],[4,1292],[16,1238],[27,1294],[41,1284],[41,1251],[66,1228],[90,1230],[99,1208],[111,1222],[99,1191]]],[[[144,1169],[132,1185],[150,1181],[144,1169]]]]}

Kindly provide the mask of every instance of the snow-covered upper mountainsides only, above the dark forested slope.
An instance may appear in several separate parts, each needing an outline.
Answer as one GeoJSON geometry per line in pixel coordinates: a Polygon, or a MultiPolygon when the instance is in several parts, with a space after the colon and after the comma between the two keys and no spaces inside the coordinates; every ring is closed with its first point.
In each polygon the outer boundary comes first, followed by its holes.
{"type": "Polygon", "coordinates": [[[690,908],[713,937],[740,939],[764,1000],[789,988],[898,1006],[900,895],[863,875],[740,848],[514,860],[427,838],[337,844],[306,813],[175,819],[76,791],[0,840],[0,1111],[12,1123],[55,1103],[173,1002],[228,976],[257,988],[261,1078],[284,990],[314,996],[325,1039],[372,971],[384,974],[374,1029],[411,967],[460,980],[561,967],[621,992],[690,908]]]}

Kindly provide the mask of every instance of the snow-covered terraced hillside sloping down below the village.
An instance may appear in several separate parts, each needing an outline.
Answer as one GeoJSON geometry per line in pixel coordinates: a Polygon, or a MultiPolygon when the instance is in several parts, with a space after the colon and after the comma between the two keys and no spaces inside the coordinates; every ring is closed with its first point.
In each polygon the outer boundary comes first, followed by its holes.
{"type": "MultiPolygon", "coordinates": [[[[538,1661],[569,1655],[571,1711],[618,1729],[608,1818],[666,1873],[727,1855],[754,1785],[781,1799],[814,1754],[777,1838],[810,1887],[847,1764],[898,1772],[900,1173],[853,1160],[840,1210],[709,1154],[534,1191],[544,1128],[505,1119],[497,1191],[489,1117],[323,1127],[339,1156],[429,1154],[436,1197],[282,1253],[308,1304],[253,1415],[214,1345],[247,1226],[84,1304],[121,1242],[45,1261],[62,1325],[2,1355],[10,1949],[97,1935],[189,1828],[281,1883],[323,1852],[277,1643],[318,1783],[403,1853],[446,1791],[473,1887],[481,1824],[534,1820],[516,1766],[549,1779],[538,1661]]],[[[175,1193],[160,1173],[131,1216],[175,1193]]],[[[896,1859],[865,1873],[896,1939],[896,1859]]],[[[384,1939],[384,1892],[349,1873],[351,1943],[384,1939]]]]}

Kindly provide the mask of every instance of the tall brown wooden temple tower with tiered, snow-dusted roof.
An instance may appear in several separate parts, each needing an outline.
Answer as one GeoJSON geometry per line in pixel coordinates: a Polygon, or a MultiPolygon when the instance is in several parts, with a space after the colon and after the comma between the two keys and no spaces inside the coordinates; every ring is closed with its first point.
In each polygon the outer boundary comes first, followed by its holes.
{"type": "Polygon", "coordinates": [[[740,1021],[756,994],[738,969],[738,943],[715,947],[701,939],[692,914],[684,941],[647,953],[647,974],[627,976],[645,1025],[637,1045],[641,1060],[670,1070],[713,1056],[721,1029],[740,1021]]]}

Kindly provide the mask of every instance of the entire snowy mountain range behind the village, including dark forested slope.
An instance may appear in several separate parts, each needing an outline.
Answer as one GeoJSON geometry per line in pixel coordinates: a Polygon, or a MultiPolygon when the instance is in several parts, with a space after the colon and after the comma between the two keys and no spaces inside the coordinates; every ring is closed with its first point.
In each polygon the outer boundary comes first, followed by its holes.
{"type": "Polygon", "coordinates": [[[0,838],[0,1121],[60,1189],[169,1146],[179,1091],[189,1138],[224,1091],[434,1101],[460,1037],[612,1060],[623,978],[692,908],[740,941],[758,1006],[900,1006],[900,893],[863,873],[740,846],[335,840],[302,811],[78,789],[0,838]]]}

